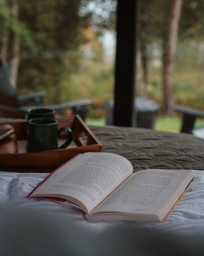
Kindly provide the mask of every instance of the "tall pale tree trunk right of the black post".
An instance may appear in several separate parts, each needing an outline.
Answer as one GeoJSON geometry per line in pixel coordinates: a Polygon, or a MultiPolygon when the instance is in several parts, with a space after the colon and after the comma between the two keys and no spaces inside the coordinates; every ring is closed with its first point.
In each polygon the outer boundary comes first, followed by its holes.
{"type": "Polygon", "coordinates": [[[172,0],[170,19],[168,21],[168,28],[166,30],[163,47],[163,111],[164,114],[167,115],[171,115],[173,112],[171,93],[181,10],[182,0],[172,0]]]}

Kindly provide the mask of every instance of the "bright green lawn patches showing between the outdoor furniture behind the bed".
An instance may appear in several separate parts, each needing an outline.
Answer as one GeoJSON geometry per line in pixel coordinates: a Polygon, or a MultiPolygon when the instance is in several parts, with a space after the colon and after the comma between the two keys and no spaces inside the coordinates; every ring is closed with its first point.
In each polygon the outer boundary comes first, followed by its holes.
{"type": "MultiPolygon", "coordinates": [[[[181,122],[180,117],[159,116],[156,119],[155,129],[157,131],[180,132],[181,122]]],[[[103,126],[105,125],[105,118],[87,118],[87,124],[103,126]]],[[[196,120],[195,127],[200,126],[204,127],[203,119],[196,120]]]]}

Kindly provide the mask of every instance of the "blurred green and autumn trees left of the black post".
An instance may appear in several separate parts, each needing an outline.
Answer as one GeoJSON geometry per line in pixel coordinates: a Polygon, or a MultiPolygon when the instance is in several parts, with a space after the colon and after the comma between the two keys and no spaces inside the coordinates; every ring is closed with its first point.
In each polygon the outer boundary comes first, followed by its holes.
{"type": "MultiPolygon", "coordinates": [[[[50,102],[56,103],[90,97],[90,91],[97,90],[89,77],[98,79],[96,66],[96,74],[89,76],[87,68],[91,69],[91,62],[103,62],[100,36],[103,29],[114,26],[112,1],[0,3],[1,54],[13,86],[21,92],[46,90],[50,102]],[[99,4],[98,13],[94,13],[99,4]]],[[[102,72],[109,72],[105,65],[102,72]]]]}

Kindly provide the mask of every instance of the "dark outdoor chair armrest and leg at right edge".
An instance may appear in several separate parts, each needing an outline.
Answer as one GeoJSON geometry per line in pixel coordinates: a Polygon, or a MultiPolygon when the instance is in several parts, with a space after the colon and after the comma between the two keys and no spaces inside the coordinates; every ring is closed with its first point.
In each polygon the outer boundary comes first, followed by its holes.
{"type": "Polygon", "coordinates": [[[204,111],[187,106],[177,106],[174,110],[182,114],[182,127],[180,132],[192,134],[196,118],[204,118],[204,111]]]}

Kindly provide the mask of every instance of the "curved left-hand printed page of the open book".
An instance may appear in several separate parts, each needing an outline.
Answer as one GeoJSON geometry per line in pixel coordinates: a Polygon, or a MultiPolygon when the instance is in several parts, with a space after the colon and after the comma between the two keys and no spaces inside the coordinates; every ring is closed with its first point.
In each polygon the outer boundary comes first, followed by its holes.
{"type": "Polygon", "coordinates": [[[90,212],[133,173],[128,159],[112,153],[85,153],[51,175],[32,196],[65,195],[90,212]]]}

